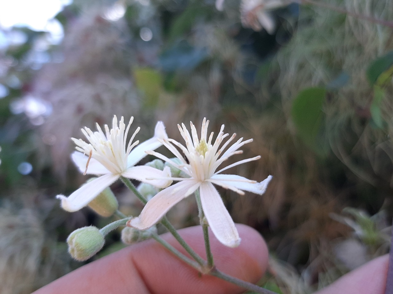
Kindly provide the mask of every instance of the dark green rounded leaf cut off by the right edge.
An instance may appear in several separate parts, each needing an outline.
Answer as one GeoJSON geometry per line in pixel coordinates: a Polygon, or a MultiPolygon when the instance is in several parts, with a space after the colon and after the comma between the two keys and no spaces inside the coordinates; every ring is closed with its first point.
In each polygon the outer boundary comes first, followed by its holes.
{"type": "Polygon", "coordinates": [[[383,85],[393,75],[393,51],[374,60],[367,69],[367,78],[371,85],[383,85]]]}

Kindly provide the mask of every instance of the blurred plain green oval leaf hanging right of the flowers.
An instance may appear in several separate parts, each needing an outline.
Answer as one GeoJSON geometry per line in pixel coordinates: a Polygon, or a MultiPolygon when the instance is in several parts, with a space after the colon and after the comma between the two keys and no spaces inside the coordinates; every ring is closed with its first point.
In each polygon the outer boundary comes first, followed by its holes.
{"type": "Polygon", "coordinates": [[[314,146],[316,143],[323,118],[325,96],[325,88],[312,87],[301,91],[292,102],[292,120],[298,135],[307,145],[314,146]]]}

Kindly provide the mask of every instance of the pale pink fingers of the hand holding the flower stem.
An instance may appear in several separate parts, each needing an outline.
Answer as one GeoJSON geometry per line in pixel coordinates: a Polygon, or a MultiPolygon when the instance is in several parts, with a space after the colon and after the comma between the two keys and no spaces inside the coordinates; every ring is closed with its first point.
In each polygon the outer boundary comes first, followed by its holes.
{"type": "MultiPolygon", "coordinates": [[[[233,249],[211,235],[218,269],[237,278],[257,282],[268,265],[268,249],[261,235],[237,225],[242,239],[233,249]]],[[[200,254],[204,241],[200,227],[178,231],[200,254]]],[[[169,234],[162,238],[184,252],[169,234]]],[[[388,256],[382,256],[343,276],[315,294],[384,294],[388,256]]],[[[84,265],[37,290],[34,294],[231,294],[244,290],[213,276],[201,275],[154,240],[143,241],[84,265]]]]}

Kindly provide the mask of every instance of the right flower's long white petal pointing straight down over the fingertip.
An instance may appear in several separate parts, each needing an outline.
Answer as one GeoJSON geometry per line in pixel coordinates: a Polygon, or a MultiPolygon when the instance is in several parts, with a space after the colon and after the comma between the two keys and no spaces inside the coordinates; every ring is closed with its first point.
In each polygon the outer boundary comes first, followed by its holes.
{"type": "Polygon", "coordinates": [[[212,183],[203,182],[199,187],[202,209],[216,238],[225,246],[237,247],[240,237],[235,223],[212,183]]]}

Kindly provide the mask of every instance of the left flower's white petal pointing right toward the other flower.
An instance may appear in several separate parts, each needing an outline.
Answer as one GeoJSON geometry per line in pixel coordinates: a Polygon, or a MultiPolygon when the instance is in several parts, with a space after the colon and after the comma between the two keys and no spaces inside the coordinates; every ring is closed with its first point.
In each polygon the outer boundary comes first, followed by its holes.
{"type": "Polygon", "coordinates": [[[171,185],[171,169],[165,167],[163,171],[145,165],[129,167],[121,173],[125,178],[135,179],[143,183],[148,183],[158,188],[166,188],[171,185]],[[164,178],[164,179],[162,179],[164,178]]]}

